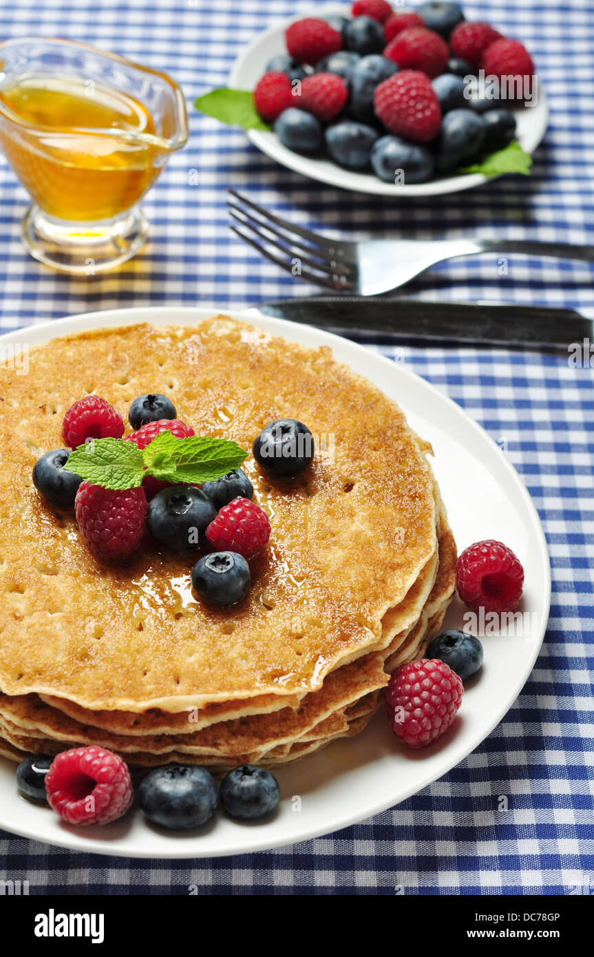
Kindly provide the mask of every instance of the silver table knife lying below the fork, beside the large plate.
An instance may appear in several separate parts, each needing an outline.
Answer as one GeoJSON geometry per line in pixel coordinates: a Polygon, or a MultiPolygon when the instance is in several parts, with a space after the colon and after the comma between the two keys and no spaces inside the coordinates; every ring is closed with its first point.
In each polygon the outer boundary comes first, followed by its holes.
{"type": "MultiPolygon", "coordinates": [[[[514,302],[426,302],[366,296],[312,296],[264,302],[249,310],[317,325],[332,332],[370,332],[389,338],[451,343],[586,348],[594,345],[594,321],[574,309],[514,302]],[[585,341],[585,342],[584,342],[585,341]]],[[[591,310],[594,317],[594,309],[591,310]]],[[[586,360],[587,361],[587,360],[586,360]]]]}

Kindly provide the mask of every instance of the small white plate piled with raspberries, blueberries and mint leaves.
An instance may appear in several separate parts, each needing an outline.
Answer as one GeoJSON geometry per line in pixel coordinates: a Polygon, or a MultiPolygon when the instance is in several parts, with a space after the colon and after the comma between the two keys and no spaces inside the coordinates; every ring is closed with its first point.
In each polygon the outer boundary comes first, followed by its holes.
{"type": "Polygon", "coordinates": [[[548,109],[517,39],[455,3],[387,0],[300,13],[260,34],[197,108],[244,126],[282,166],[383,196],[527,174],[548,109]]]}

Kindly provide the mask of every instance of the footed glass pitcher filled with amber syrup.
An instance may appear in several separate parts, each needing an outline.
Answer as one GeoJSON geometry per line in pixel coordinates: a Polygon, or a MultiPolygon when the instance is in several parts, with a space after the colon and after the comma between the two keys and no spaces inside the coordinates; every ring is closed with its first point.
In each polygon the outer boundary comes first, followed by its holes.
{"type": "Polygon", "coordinates": [[[186,142],[165,74],[73,40],[0,43],[0,144],[33,198],[22,236],[40,262],[89,276],[135,256],[138,203],[186,142]]]}

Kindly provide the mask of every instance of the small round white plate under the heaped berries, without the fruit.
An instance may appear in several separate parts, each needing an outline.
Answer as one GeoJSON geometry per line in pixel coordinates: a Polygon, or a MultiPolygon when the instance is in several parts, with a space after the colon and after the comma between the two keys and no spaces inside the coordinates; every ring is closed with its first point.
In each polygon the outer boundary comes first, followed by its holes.
{"type": "MultiPolygon", "coordinates": [[[[229,78],[230,87],[238,90],[253,90],[272,57],[287,52],[285,30],[289,24],[305,16],[324,17],[331,14],[347,16],[349,12],[350,8],[337,7],[334,4],[315,10],[301,11],[297,16],[282,20],[264,33],[260,33],[235,60],[229,78]]],[[[549,116],[546,94],[540,83],[537,105],[517,110],[516,116],[517,142],[528,153],[533,153],[544,136],[549,116]]],[[[482,173],[467,173],[466,175],[440,176],[429,183],[419,183],[416,186],[405,184],[394,186],[392,183],[384,183],[373,173],[352,172],[342,169],[330,160],[300,156],[283,146],[275,133],[257,129],[249,129],[246,132],[253,145],[283,167],[294,169],[295,172],[309,176],[310,179],[319,180],[320,183],[328,183],[330,186],[338,186],[341,189],[351,189],[354,192],[391,196],[392,199],[398,199],[400,196],[438,196],[443,193],[459,192],[462,189],[473,189],[490,180],[490,177],[483,176],[482,173]]]]}

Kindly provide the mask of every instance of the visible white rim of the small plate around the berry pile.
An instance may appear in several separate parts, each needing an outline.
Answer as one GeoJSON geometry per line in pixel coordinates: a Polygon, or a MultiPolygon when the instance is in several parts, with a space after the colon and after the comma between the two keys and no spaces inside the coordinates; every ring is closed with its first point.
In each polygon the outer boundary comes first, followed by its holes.
{"type": "MultiPolygon", "coordinates": [[[[254,57],[260,55],[260,50],[274,40],[276,35],[284,32],[291,23],[303,19],[306,16],[330,16],[346,15],[350,13],[350,8],[329,4],[319,8],[310,8],[299,11],[297,14],[277,21],[271,27],[258,33],[248,44],[247,47],[237,56],[231,67],[229,85],[237,89],[253,89],[253,84],[247,83],[243,79],[246,68],[251,64],[254,57]]],[[[284,52],[282,48],[276,51],[284,52]]],[[[272,52],[267,54],[266,62],[272,56],[272,52]]],[[[262,70],[265,62],[262,56],[259,56],[259,62],[262,64],[262,70]]],[[[261,71],[260,71],[261,72],[261,71]]],[[[539,110],[539,123],[535,124],[531,135],[525,134],[521,139],[521,145],[529,153],[534,153],[537,146],[541,143],[546,132],[549,120],[548,102],[544,87],[539,81],[539,103],[529,112],[539,110]]],[[[466,189],[474,189],[478,186],[484,186],[485,183],[492,183],[500,176],[484,176],[482,173],[466,173],[457,176],[446,176],[429,183],[418,183],[407,186],[399,185],[397,188],[391,183],[384,183],[377,179],[372,173],[358,173],[348,169],[342,169],[333,163],[324,163],[319,159],[312,159],[307,156],[301,156],[292,152],[283,146],[275,133],[265,130],[247,129],[245,133],[248,139],[257,146],[263,153],[275,160],[281,166],[292,169],[294,172],[307,176],[309,179],[317,180],[319,183],[325,183],[328,186],[348,189],[352,192],[360,192],[365,195],[389,196],[391,199],[398,200],[401,197],[414,196],[442,196],[453,192],[462,192],[466,189]]]]}

